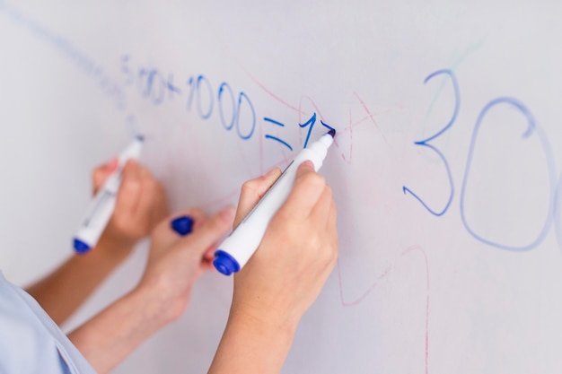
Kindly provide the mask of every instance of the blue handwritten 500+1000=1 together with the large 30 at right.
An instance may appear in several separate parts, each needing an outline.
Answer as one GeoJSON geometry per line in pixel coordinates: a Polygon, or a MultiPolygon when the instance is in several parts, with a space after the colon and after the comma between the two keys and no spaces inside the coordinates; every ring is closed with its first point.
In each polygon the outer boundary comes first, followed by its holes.
{"type": "MultiPolygon", "coordinates": [[[[220,123],[225,130],[231,131],[235,129],[236,135],[242,140],[248,140],[254,135],[257,126],[256,111],[249,96],[240,91],[235,93],[233,88],[228,83],[220,83],[218,89],[214,89],[212,83],[204,74],[197,76],[189,76],[183,85],[174,83],[172,74],[162,74],[158,69],[148,68],[141,65],[133,65],[132,58],[128,55],[121,59],[121,72],[123,74],[124,84],[126,87],[136,87],[138,94],[146,100],[150,100],[154,105],[160,105],[164,100],[174,100],[176,96],[184,95],[186,97],[186,109],[189,113],[195,112],[198,117],[207,120],[214,115],[219,118],[220,123]],[[244,115],[244,112],[245,115],[244,115]],[[246,118],[246,123],[241,123],[241,117],[246,118]]],[[[459,112],[461,110],[461,89],[456,75],[450,69],[443,69],[435,71],[427,75],[424,83],[435,79],[437,76],[447,76],[452,84],[452,92],[454,95],[454,106],[449,121],[435,134],[426,137],[425,139],[414,142],[416,146],[426,147],[435,152],[443,163],[443,170],[445,171],[449,182],[449,196],[447,202],[442,207],[435,207],[426,204],[424,197],[419,196],[414,188],[404,186],[402,190],[405,195],[411,196],[416,199],[419,204],[422,204],[428,213],[435,216],[442,216],[447,213],[449,207],[453,202],[455,196],[455,182],[452,178],[452,171],[447,161],[446,155],[434,144],[435,140],[443,137],[454,125],[459,112]]],[[[285,127],[285,124],[277,121],[272,117],[260,118],[263,122],[262,125],[273,125],[277,127],[285,127]]],[[[303,124],[298,124],[300,127],[308,127],[308,133],[304,140],[303,147],[305,148],[309,142],[312,128],[317,122],[317,113],[313,113],[303,124]]],[[[327,125],[324,121],[320,121],[321,126],[329,129],[332,126],[327,125]]],[[[264,135],[265,139],[275,141],[277,144],[282,144],[288,150],[293,151],[294,147],[288,144],[283,138],[275,135],[264,135]]],[[[461,181],[461,221],[465,229],[472,237],[487,245],[495,248],[501,248],[510,251],[526,251],[536,248],[540,242],[546,237],[549,232],[550,226],[555,225],[555,230],[558,238],[558,244],[562,246],[562,228],[560,227],[561,214],[559,209],[555,209],[558,204],[558,194],[555,193],[555,186],[558,189],[562,188],[562,177],[556,182],[554,176],[554,160],[550,151],[549,141],[546,135],[543,134],[537,121],[531,114],[531,111],[520,101],[514,98],[502,97],[491,100],[481,110],[479,117],[476,120],[474,130],[470,141],[470,150],[467,157],[467,163],[464,171],[464,178],[461,181]],[[540,137],[540,144],[545,153],[545,157],[549,163],[549,180],[551,184],[550,208],[549,213],[544,219],[544,224],[539,233],[530,243],[524,243],[519,246],[508,245],[502,242],[487,239],[485,235],[479,234],[474,230],[470,224],[469,219],[465,214],[465,196],[467,184],[470,179],[471,161],[474,156],[475,145],[479,138],[479,129],[483,119],[487,116],[490,109],[498,106],[508,106],[517,110],[523,117],[525,117],[528,127],[523,134],[523,138],[528,138],[533,134],[538,134],[540,137]]]]}

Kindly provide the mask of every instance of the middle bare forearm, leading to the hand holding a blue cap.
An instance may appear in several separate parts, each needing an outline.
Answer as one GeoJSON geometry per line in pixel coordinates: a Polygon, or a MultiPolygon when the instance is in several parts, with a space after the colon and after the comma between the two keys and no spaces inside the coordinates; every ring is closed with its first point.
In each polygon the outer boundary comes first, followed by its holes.
{"type": "Polygon", "coordinates": [[[148,292],[131,291],[68,337],[99,374],[108,373],[171,322],[164,308],[148,292]]]}

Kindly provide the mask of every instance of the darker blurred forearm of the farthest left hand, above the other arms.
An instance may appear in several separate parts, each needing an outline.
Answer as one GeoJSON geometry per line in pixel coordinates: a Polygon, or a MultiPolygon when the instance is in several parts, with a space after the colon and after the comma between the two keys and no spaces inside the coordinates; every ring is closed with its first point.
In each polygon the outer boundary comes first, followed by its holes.
{"type": "Polygon", "coordinates": [[[26,291],[60,325],[123,262],[132,248],[132,244],[115,243],[102,237],[89,253],[73,255],[26,291]]]}

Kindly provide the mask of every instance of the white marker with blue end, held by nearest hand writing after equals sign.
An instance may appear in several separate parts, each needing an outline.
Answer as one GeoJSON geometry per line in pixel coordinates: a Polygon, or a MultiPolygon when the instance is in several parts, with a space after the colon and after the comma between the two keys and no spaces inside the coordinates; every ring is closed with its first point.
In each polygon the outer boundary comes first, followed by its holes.
{"type": "Polygon", "coordinates": [[[315,143],[299,152],[293,161],[286,167],[281,176],[268,189],[259,203],[244,217],[242,222],[233,232],[224,239],[215,251],[216,270],[225,275],[238,272],[258,249],[263,239],[269,221],[277,210],[285,203],[287,196],[293,189],[296,170],[304,161],[312,161],[314,170],[318,171],[322,161],[326,158],[329,146],[334,143],[336,130],[331,129],[321,136],[315,143]]]}

